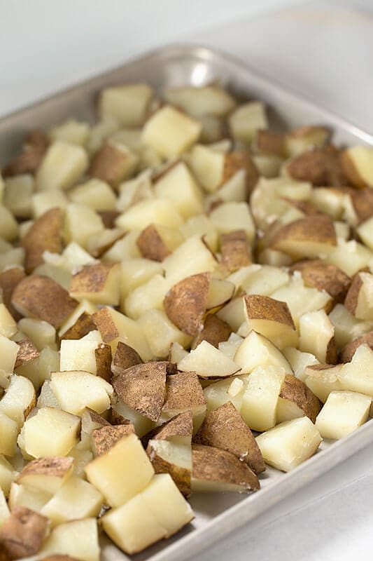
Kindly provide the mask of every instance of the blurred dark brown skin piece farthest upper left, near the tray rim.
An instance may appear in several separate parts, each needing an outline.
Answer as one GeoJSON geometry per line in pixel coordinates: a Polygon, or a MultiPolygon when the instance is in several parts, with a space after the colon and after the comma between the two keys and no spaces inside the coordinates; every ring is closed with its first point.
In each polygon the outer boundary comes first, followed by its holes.
{"type": "Polygon", "coordinates": [[[41,130],[32,130],[24,141],[22,152],[3,170],[3,177],[35,173],[48,147],[48,138],[41,130]]]}

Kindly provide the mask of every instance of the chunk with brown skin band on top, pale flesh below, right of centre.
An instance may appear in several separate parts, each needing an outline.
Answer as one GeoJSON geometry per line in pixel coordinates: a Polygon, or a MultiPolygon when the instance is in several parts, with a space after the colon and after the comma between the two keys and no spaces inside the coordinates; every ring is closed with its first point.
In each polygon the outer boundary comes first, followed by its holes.
{"type": "Polygon", "coordinates": [[[278,349],[297,346],[297,331],[286,302],[262,295],[244,297],[248,329],[267,337],[278,349]]]}

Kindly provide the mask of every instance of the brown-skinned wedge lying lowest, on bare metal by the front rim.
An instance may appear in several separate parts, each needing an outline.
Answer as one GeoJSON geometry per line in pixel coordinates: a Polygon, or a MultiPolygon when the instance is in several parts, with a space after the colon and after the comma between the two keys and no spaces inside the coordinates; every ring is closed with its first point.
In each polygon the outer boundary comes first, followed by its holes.
{"type": "Polygon", "coordinates": [[[255,473],[226,450],[192,445],[192,462],[192,491],[247,493],[260,488],[255,473]]]}

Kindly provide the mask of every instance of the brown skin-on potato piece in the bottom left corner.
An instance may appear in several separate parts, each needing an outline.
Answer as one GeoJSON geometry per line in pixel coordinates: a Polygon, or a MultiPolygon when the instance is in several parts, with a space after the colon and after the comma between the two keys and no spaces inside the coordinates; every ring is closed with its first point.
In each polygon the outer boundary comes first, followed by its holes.
{"type": "Polygon", "coordinates": [[[8,560],[38,553],[48,530],[49,520],[25,506],[15,506],[0,529],[0,545],[8,560]]]}

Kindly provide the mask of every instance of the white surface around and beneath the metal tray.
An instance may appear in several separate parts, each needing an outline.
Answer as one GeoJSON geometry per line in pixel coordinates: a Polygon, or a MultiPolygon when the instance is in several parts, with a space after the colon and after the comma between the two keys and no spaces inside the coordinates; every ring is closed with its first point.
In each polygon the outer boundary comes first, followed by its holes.
{"type": "MultiPolygon", "coordinates": [[[[150,47],[191,40],[247,60],[373,132],[372,1],[297,2],[253,18],[255,12],[282,4],[0,0],[0,114],[150,47]],[[205,27],[210,29],[202,31],[205,27]]],[[[206,551],[199,561],[350,561],[370,556],[372,466],[373,446],[206,551]]]]}

